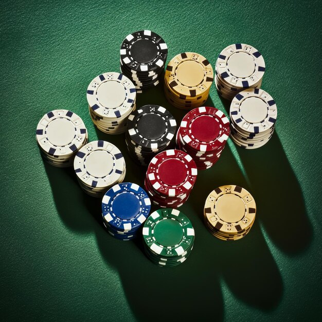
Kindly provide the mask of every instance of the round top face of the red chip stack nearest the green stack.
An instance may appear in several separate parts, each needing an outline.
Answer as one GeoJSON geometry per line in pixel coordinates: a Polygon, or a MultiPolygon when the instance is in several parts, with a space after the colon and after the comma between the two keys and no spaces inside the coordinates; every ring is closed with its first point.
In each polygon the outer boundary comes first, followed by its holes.
{"type": "Polygon", "coordinates": [[[190,192],[197,173],[189,154],[180,150],[166,150],[151,160],[147,178],[155,191],[168,196],[180,196],[190,192]]]}

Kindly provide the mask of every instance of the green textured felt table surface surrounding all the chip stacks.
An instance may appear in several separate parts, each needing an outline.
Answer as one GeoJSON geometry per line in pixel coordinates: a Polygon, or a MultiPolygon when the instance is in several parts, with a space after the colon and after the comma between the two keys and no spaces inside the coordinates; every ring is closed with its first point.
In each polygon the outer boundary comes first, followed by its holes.
{"type": "MultiPolygon", "coordinates": [[[[3,1],[1,4],[1,299],[6,319],[305,320],[321,316],[321,8],[318,1],[3,1]],[[215,66],[225,46],[261,51],[262,88],[278,106],[276,132],[258,150],[230,140],[200,172],[181,207],[195,227],[192,254],[173,269],[153,265],[141,242],[103,230],[100,201],[84,195],[72,170],[45,164],[35,142],[39,119],[69,109],[90,140],[116,144],[126,181],[140,185],[122,135],[96,131],[86,88],[119,71],[129,33],[162,35],[169,59],[196,51],[215,66]],[[255,197],[250,234],[234,243],[202,222],[208,193],[245,187],[255,197]]],[[[177,122],[185,114],[162,86],[138,95],[177,122]]],[[[228,113],[213,85],[208,105],[228,113]]]]}

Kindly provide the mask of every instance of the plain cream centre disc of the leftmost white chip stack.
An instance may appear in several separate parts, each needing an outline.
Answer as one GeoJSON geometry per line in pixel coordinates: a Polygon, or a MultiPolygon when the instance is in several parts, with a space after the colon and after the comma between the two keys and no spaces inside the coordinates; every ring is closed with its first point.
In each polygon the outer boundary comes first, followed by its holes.
{"type": "Polygon", "coordinates": [[[75,136],[75,126],[73,122],[66,118],[57,118],[49,122],[46,133],[51,144],[63,147],[73,140],[75,136]]]}

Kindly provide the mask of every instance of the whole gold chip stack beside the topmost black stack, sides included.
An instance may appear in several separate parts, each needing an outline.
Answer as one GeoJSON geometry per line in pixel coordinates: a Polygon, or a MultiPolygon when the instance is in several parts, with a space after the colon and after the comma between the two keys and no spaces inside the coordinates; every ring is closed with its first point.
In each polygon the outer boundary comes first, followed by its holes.
{"type": "Polygon", "coordinates": [[[183,52],[172,58],[166,68],[164,91],[170,104],[190,110],[202,106],[213,82],[208,60],[195,52],[183,52]]]}

